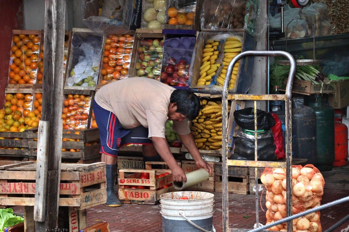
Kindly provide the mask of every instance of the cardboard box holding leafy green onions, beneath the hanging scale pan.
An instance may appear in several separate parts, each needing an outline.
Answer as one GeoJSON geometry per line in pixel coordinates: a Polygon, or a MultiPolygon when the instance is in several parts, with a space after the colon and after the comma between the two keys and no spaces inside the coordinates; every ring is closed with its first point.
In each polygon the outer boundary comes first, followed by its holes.
{"type": "MultiPolygon", "coordinates": [[[[285,91],[287,85],[287,79],[284,81],[280,90],[285,91]]],[[[321,85],[314,85],[311,81],[304,81],[295,79],[292,85],[292,93],[311,95],[311,94],[334,94],[335,88],[330,85],[324,85],[321,89],[321,85]]]]}

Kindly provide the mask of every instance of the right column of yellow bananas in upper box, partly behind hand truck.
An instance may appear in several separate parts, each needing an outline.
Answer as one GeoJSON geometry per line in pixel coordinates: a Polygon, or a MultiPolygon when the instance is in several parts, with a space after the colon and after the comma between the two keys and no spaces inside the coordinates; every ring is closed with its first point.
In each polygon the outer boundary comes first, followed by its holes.
{"type": "MultiPolygon", "coordinates": [[[[221,71],[220,76],[217,78],[217,82],[222,86],[224,85],[224,80],[227,74],[229,63],[232,61],[232,59],[235,56],[237,56],[241,52],[241,47],[242,47],[242,44],[240,42],[241,40],[242,38],[234,36],[234,37],[227,38],[227,40],[224,43],[223,69],[221,71]]],[[[239,62],[237,62],[233,67],[233,71],[232,71],[231,79],[229,83],[229,89],[234,88],[235,86],[236,75],[238,74],[238,67],[239,67],[239,62]]]]}

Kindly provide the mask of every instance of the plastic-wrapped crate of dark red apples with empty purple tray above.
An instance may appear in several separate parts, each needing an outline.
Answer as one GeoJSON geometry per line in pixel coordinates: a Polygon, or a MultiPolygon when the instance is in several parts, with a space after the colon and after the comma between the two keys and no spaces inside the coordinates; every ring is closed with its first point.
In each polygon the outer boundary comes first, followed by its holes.
{"type": "Polygon", "coordinates": [[[195,37],[172,38],[164,41],[160,81],[176,87],[188,87],[190,62],[195,37]]]}

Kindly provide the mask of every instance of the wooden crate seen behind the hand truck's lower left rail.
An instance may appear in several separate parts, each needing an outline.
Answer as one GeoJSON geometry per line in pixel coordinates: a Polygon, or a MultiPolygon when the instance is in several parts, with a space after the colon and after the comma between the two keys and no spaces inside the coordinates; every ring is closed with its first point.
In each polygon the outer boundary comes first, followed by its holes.
{"type": "MultiPolygon", "coordinates": [[[[228,192],[246,195],[249,192],[248,167],[228,168],[228,192]]],[[[222,163],[215,164],[215,191],[222,192],[222,163]]]]}

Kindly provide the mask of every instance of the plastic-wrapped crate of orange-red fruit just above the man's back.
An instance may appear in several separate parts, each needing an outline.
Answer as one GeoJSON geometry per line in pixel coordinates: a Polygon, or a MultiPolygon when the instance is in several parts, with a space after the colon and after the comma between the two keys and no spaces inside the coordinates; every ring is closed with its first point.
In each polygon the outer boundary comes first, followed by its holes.
{"type": "Polygon", "coordinates": [[[134,36],[109,35],[105,39],[99,83],[105,85],[128,77],[134,36]]]}

